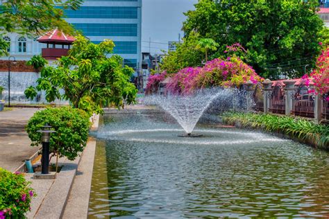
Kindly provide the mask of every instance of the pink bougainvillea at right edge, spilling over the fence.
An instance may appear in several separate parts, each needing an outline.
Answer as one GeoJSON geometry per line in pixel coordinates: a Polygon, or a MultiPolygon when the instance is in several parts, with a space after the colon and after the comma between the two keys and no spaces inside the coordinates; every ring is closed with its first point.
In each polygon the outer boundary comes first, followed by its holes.
{"type": "Polygon", "coordinates": [[[305,75],[302,78],[306,85],[310,85],[310,80],[313,80],[315,93],[327,94],[329,92],[329,47],[319,55],[317,69],[314,69],[310,76],[305,75]]]}

